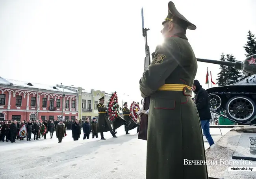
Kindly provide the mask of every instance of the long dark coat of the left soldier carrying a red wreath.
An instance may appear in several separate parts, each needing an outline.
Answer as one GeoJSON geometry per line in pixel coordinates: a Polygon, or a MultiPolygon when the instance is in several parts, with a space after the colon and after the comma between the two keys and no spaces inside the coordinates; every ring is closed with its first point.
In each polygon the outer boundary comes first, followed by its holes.
{"type": "Polygon", "coordinates": [[[113,130],[111,127],[111,124],[108,120],[108,114],[106,112],[107,108],[105,107],[105,105],[102,103],[98,103],[97,108],[98,108],[98,113],[99,113],[98,125],[97,125],[98,133],[108,132],[108,131],[113,130]]]}

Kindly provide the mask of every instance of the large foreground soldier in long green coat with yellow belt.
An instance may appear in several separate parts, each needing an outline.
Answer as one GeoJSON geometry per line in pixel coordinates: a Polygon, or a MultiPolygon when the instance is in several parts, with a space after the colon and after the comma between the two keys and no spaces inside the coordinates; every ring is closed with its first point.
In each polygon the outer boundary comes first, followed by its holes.
{"type": "Polygon", "coordinates": [[[197,59],[186,30],[196,26],[181,15],[173,2],[162,22],[164,42],[140,79],[141,96],[150,96],[146,179],[208,179],[200,120],[191,99],[197,59]]]}

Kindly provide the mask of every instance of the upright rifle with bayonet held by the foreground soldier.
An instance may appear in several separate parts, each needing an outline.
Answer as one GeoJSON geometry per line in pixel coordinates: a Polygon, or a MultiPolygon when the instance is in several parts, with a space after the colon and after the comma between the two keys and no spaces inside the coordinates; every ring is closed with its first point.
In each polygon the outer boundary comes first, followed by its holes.
{"type": "MultiPolygon", "coordinates": [[[[144,71],[146,71],[150,65],[150,53],[149,53],[149,46],[148,46],[148,39],[147,39],[147,31],[149,29],[144,27],[143,7],[141,7],[141,18],[142,18],[142,35],[145,38],[146,57],[144,59],[144,71]]],[[[146,111],[149,109],[149,102],[150,102],[150,96],[148,96],[147,98],[143,98],[143,100],[141,100],[141,104],[143,105],[143,110],[141,111],[141,114],[140,114],[141,122],[139,126],[138,138],[142,140],[147,140],[148,114],[146,114],[146,111]]]]}

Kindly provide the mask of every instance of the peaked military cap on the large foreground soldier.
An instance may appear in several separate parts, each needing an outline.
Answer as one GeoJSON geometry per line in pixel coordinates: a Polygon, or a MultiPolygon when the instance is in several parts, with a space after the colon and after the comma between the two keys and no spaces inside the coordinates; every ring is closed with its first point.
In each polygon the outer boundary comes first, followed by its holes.
{"type": "Polygon", "coordinates": [[[165,18],[165,21],[162,22],[164,24],[168,20],[181,25],[183,28],[188,28],[189,30],[195,30],[197,27],[189,22],[179,11],[176,9],[173,2],[168,3],[168,15],[165,18]]]}

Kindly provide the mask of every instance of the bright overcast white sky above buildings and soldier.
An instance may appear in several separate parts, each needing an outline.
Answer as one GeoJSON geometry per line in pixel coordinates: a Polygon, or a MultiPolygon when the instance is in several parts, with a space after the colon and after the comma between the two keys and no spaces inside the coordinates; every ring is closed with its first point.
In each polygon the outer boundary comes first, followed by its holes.
{"type": "MultiPolygon", "coordinates": [[[[161,43],[168,2],[0,0],[0,76],[117,91],[119,98],[141,101],[139,79],[145,57],[141,7],[145,27],[150,28],[151,54],[161,43]]],[[[198,58],[218,60],[224,52],[245,59],[247,31],[256,33],[255,0],[173,2],[197,26],[187,30],[187,37],[198,58]]],[[[215,82],[219,72],[219,65],[198,63],[196,79],[205,89],[207,67],[215,82]]]]}

